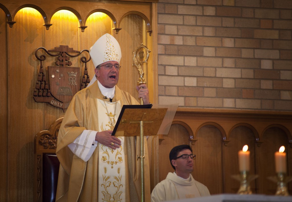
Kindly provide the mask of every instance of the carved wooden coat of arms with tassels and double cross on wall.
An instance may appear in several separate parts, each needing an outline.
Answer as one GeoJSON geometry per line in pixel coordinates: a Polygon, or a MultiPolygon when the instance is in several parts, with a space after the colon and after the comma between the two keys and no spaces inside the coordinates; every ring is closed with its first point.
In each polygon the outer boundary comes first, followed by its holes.
{"type": "Polygon", "coordinates": [[[60,45],[53,50],[46,50],[44,47],[36,49],[34,55],[40,61],[40,69],[33,93],[34,101],[48,102],[57,108],[63,109],[65,112],[75,93],[86,88],[90,82],[87,72],[87,62],[90,61],[90,56],[88,60],[85,56],[81,57],[82,66],[84,64],[82,78],[80,77],[80,67],[72,67],[72,62],[70,61],[70,57],[78,57],[85,52],[89,56],[88,50],[77,51],[69,48],[67,45],[60,45]],[[48,66],[49,82],[47,82],[46,70],[43,67],[46,55],[38,56],[37,53],[40,50],[44,50],[48,55],[57,58],[55,66],[48,66]],[[73,53],[73,55],[69,53],[73,53]]]}

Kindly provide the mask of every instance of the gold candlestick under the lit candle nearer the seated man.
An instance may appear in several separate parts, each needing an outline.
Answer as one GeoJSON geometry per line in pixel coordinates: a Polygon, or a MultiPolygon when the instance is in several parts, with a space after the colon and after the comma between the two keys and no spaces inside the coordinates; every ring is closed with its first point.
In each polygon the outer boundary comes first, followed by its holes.
{"type": "Polygon", "coordinates": [[[239,175],[232,175],[232,177],[240,182],[237,194],[252,194],[250,182],[258,175],[251,175],[248,171],[240,171],[239,175]]]}

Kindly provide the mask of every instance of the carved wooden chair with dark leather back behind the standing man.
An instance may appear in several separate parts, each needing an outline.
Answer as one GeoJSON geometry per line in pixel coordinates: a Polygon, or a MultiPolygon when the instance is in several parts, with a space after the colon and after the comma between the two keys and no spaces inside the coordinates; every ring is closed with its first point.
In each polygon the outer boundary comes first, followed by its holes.
{"type": "Polygon", "coordinates": [[[57,138],[63,117],[49,130],[34,138],[34,201],[55,201],[60,162],[56,156],[57,138]]]}

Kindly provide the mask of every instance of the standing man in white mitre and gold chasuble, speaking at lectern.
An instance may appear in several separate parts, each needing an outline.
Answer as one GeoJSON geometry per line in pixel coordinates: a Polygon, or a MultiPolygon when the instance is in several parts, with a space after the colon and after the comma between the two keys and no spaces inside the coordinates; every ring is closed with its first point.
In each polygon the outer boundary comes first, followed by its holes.
{"type": "MultiPolygon", "coordinates": [[[[119,43],[105,34],[89,54],[95,77],[74,95],[58,134],[56,201],[140,201],[139,137],[111,136],[121,107],[139,104],[117,87],[122,69],[119,43]]],[[[147,86],[136,89],[143,103],[149,104],[147,86]]],[[[145,138],[145,201],[150,201],[149,172],[145,138]]]]}

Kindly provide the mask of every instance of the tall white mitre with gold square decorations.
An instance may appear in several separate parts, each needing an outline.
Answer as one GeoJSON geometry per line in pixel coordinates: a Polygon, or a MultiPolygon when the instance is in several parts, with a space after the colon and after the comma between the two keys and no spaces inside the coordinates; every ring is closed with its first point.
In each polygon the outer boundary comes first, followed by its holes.
{"type": "MultiPolygon", "coordinates": [[[[117,61],[120,63],[122,57],[119,42],[110,34],[101,36],[89,49],[89,55],[94,68],[108,61],[117,61]]],[[[92,85],[95,81],[96,77],[94,75],[88,86],[92,85]]]]}

